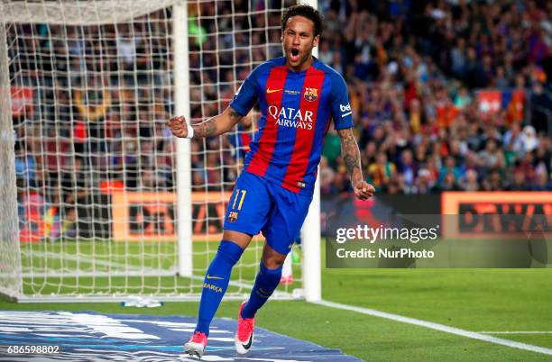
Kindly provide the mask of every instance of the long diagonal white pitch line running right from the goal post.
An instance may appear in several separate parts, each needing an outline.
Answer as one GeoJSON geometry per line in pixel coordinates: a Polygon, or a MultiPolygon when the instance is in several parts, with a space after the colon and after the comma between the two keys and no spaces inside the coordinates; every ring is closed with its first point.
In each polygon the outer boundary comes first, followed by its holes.
{"type": "Polygon", "coordinates": [[[320,302],[313,302],[313,303],[319,304],[319,305],[324,305],[324,306],[327,306],[327,307],[330,307],[330,308],[336,308],[336,309],[342,309],[342,310],[350,311],[350,312],[358,312],[358,313],[362,313],[362,314],[372,315],[374,317],[385,318],[385,319],[388,319],[388,320],[391,320],[391,321],[400,321],[400,322],[403,322],[403,323],[409,323],[409,324],[417,325],[417,326],[420,326],[420,327],[426,327],[426,328],[429,328],[431,330],[440,330],[440,331],[444,331],[446,333],[452,333],[452,334],[455,334],[457,336],[463,336],[463,337],[467,337],[467,338],[471,338],[471,339],[479,339],[479,340],[483,340],[485,342],[500,344],[500,345],[506,346],[506,347],[519,348],[519,349],[529,350],[531,352],[537,352],[537,353],[542,353],[542,354],[545,354],[545,355],[552,356],[552,349],[550,349],[550,348],[533,346],[531,344],[516,342],[516,341],[510,340],[510,339],[501,339],[501,338],[498,338],[498,337],[492,337],[492,336],[483,334],[481,332],[474,332],[474,331],[470,331],[470,330],[461,330],[459,328],[450,327],[450,326],[447,326],[445,324],[434,323],[433,321],[422,321],[422,320],[418,320],[416,318],[403,317],[402,315],[398,315],[398,314],[392,314],[392,313],[388,313],[388,312],[380,312],[380,311],[376,311],[374,309],[355,307],[353,305],[347,305],[347,304],[342,304],[342,303],[334,303],[334,302],[328,302],[328,301],[320,301],[320,302]]]}

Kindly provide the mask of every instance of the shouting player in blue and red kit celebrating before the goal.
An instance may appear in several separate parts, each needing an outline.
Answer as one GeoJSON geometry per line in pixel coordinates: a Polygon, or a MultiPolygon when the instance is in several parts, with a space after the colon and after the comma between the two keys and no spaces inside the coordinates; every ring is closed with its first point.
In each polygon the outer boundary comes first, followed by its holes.
{"type": "Polygon", "coordinates": [[[244,171],[225,214],[223,240],[207,268],[196,330],[185,353],[201,357],[209,324],[225,294],[232,267],[253,235],[262,231],[260,271],[250,298],[238,312],[235,348],[246,353],[253,343],[255,313],[281,278],[281,265],[305,220],[312,200],[324,136],[334,120],[354,194],[366,200],[373,186],[363,180],[360,152],[345,80],[312,56],[322,32],[322,16],[308,5],[287,9],[281,17],[284,57],[265,61],[244,80],[223,113],[193,126],[172,117],[168,126],[177,137],[200,139],[230,131],[258,102],[259,131],[245,156],[244,171]]]}

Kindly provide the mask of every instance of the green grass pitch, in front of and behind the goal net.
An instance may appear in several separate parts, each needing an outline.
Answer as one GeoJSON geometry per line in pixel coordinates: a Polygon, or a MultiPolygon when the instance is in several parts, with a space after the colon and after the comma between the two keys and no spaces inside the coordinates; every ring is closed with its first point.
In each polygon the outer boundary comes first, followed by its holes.
{"type": "MultiPolygon", "coordinates": [[[[174,246],[169,243],[78,243],[80,252],[111,255],[115,260],[124,258],[132,263],[146,263],[153,269],[171,263],[174,246]],[[103,249],[102,249],[103,248],[103,249]],[[130,248],[130,249],[129,249],[130,248]],[[156,249],[157,248],[157,249],[156,249]],[[165,258],[139,258],[139,253],[160,251],[165,258]],[[111,254],[109,254],[111,253],[111,254]],[[127,257],[124,257],[127,253],[127,257]]],[[[76,243],[66,243],[65,249],[55,244],[38,246],[45,253],[76,251],[76,243]]],[[[206,267],[216,249],[216,243],[194,243],[195,263],[198,273],[206,267]]],[[[235,270],[233,278],[253,278],[255,256],[260,248],[245,254],[245,267],[235,270]]],[[[324,252],[322,252],[324,256],[324,252]]],[[[60,263],[49,258],[27,258],[24,263],[60,263]]],[[[106,271],[102,262],[84,263],[80,267],[106,271]]],[[[36,264],[38,263],[38,264],[36,264]]],[[[73,261],[65,261],[64,267],[74,267],[73,261]]],[[[324,260],[322,265],[324,266],[324,260]]],[[[60,267],[60,265],[51,265],[60,267]]],[[[113,267],[112,267],[113,270],[113,267]]],[[[297,274],[299,269],[295,269],[297,274]]],[[[200,273],[199,273],[200,274],[200,273]]],[[[145,282],[153,289],[171,286],[174,277],[121,277],[109,282],[112,291],[136,293],[144,290],[138,286],[145,282]],[[161,278],[161,279],[160,279],[161,278]]],[[[186,290],[189,281],[178,278],[178,289],[186,290]],[[180,287],[182,289],[180,289],[180,287]]],[[[42,293],[55,292],[55,279],[41,289],[42,293]]],[[[86,277],[64,278],[64,285],[74,290],[101,285],[86,277]]],[[[41,280],[34,280],[41,285],[41,280]]],[[[199,282],[196,282],[198,284],[199,282]]],[[[299,285],[296,285],[299,286],[299,285]]],[[[29,287],[29,286],[27,286],[29,287]]],[[[322,296],[337,303],[391,312],[424,321],[434,321],[471,331],[548,331],[541,334],[496,334],[535,346],[552,348],[552,269],[322,269],[322,296]]],[[[147,290],[147,289],[146,289],[147,290]]],[[[188,289],[189,290],[189,289],[188,289]]],[[[246,291],[234,287],[234,292],[246,291]]],[[[29,290],[27,290],[29,292],[29,290]]],[[[193,292],[198,292],[194,289],[193,292]]],[[[217,316],[235,318],[240,302],[223,302],[217,316]]],[[[0,300],[2,310],[20,311],[97,311],[106,313],[143,313],[163,315],[196,315],[198,303],[165,303],[161,308],[124,308],[118,303],[41,303],[21,304],[0,300]]],[[[345,353],[368,361],[544,361],[552,357],[535,352],[500,346],[437,330],[409,325],[398,321],[347,312],[302,301],[271,301],[257,315],[257,325],[289,335],[308,339],[327,348],[340,348],[345,353]]],[[[182,340],[188,339],[182,335],[182,340]]]]}

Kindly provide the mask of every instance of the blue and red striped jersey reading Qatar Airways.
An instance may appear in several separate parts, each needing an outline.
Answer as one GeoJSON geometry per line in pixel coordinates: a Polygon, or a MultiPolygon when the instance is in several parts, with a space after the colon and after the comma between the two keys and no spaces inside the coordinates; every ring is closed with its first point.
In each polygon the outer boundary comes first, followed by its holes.
{"type": "Polygon", "coordinates": [[[336,130],[353,127],[345,80],[318,59],[302,72],[285,57],[265,61],[244,80],[230,106],[242,115],[256,102],[259,131],[245,156],[244,170],[311,195],[330,120],[336,130]]]}

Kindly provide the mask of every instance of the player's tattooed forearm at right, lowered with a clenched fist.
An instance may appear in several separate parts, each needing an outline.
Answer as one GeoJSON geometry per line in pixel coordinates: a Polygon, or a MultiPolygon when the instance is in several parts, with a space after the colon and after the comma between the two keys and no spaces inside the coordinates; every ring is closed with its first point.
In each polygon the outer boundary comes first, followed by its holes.
{"type": "Polygon", "coordinates": [[[354,195],[360,200],[367,200],[373,196],[375,189],[372,185],[363,180],[363,171],[360,162],[360,150],[358,144],[354,140],[353,130],[345,128],[338,130],[339,138],[341,140],[341,154],[345,161],[345,167],[347,173],[351,178],[351,185],[354,189],[354,195]]]}

